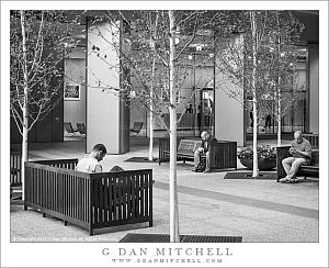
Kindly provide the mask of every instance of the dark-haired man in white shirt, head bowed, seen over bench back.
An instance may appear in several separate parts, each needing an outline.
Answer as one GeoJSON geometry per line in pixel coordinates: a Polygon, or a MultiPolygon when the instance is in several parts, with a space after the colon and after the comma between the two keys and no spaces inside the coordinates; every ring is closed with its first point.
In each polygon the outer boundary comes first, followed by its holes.
{"type": "Polygon", "coordinates": [[[76,170],[88,174],[102,172],[103,168],[100,161],[103,160],[105,155],[105,146],[103,144],[97,144],[95,146],[93,146],[90,155],[86,156],[78,163],[76,170]]]}

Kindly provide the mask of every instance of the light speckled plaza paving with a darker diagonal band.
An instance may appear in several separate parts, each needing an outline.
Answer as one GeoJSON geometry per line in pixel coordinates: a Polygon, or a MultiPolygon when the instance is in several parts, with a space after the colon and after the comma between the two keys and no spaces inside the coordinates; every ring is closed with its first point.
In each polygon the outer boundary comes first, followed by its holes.
{"type": "MultiPolygon", "coordinates": [[[[275,141],[263,141],[273,144],[275,141]]],[[[283,141],[283,144],[288,144],[283,141]]],[[[97,231],[43,217],[39,212],[11,204],[12,242],[118,242],[127,233],[169,234],[169,164],[131,163],[134,156],[147,156],[147,141],[134,138],[131,152],[107,155],[104,170],[120,165],[124,169],[154,170],[154,226],[132,224],[97,231]]],[[[32,144],[30,159],[81,158],[84,142],[32,144]]],[[[154,156],[158,156],[156,144],[154,156]]],[[[194,235],[242,236],[242,242],[318,242],[319,179],[299,183],[277,183],[263,179],[224,179],[226,171],[195,174],[192,163],[178,163],[180,233],[194,235]]],[[[243,167],[238,163],[238,169],[243,167]]]]}

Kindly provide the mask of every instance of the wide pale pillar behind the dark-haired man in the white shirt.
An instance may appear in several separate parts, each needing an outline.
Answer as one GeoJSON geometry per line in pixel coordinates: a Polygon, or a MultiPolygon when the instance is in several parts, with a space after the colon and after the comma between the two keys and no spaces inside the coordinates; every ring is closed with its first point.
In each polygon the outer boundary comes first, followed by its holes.
{"type": "Polygon", "coordinates": [[[118,27],[87,21],[87,153],[103,143],[107,154],[129,150],[129,109],[121,93],[118,27]]]}

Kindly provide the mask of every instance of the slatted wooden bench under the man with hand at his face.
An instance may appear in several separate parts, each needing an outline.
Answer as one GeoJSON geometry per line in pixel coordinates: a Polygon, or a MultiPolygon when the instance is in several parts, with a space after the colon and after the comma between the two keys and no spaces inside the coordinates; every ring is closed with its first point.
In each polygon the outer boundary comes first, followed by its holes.
{"type": "MultiPolygon", "coordinates": [[[[201,146],[201,139],[178,137],[178,160],[194,160],[194,152],[201,146]]],[[[169,137],[159,138],[159,165],[169,161],[169,137]]],[[[209,147],[209,168],[212,169],[237,169],[237,143],[230,141],[217,141],[209,147]]]]}

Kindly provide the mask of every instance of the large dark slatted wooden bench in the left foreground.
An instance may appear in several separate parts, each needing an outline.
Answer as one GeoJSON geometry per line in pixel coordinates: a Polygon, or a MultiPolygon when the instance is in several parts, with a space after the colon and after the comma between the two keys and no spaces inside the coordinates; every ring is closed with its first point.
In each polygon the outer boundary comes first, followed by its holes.
{"type": "Polygon", "coordinates": [[[148,222],[152,170],[76,171],[78,159],[25,163],[24,210],[32,208],[89,231],[148,222]]]}

